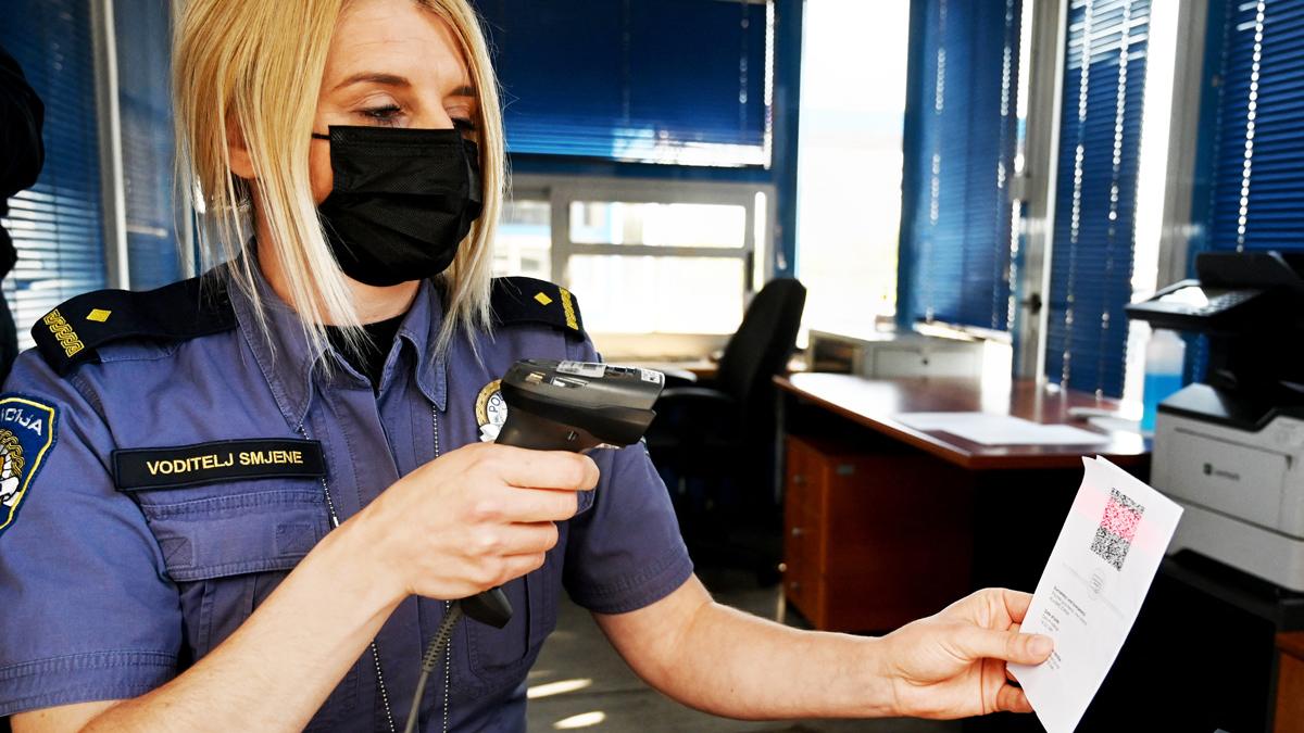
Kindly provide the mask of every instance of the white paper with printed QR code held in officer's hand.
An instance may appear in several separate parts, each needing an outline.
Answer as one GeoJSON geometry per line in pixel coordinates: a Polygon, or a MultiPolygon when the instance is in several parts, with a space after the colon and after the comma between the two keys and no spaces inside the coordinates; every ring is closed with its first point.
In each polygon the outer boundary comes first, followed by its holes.
{"type": "Polygon", "coordinates": [[[1055,640],[1037,666],[1011,664],[1047,733],[1071,733],[1119,656],[1181,507],[1103,458],[1086,475],[1022,631],[1055,640]]]}

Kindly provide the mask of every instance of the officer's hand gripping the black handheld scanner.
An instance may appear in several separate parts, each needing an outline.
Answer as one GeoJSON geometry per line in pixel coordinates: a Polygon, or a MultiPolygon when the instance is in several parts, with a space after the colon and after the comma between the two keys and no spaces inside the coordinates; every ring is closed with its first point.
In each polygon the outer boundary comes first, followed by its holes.
{"type": "Polygon", "coordinates": [[[556,523],[595,485],[587,455],[468,445],[396,481],[340,532],[361,540],[395,601],[460,599],[542,566],[556,523]]]}

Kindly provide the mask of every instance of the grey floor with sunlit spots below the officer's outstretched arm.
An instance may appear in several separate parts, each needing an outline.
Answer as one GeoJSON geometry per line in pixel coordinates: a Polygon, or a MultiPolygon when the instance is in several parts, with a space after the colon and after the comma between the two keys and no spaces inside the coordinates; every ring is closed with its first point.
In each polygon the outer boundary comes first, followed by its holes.
{"type": "MultiPolygon", "coordinates": [[[[705,574],[704,582],[720,603],[768,618],[776,618],[781,613],[777,586],[758,588],[750,575],[730,573],[705,574]]],[[[788,614],[785,621],[795,626],[802,623],[792,614],[788,614]]],[[[955,723],[918,720],[745,723],[689,710],[635,677],[602,636],[588,612],[569,600],[562,601],[557,631],[544,644],[539,661],[529,673],[531,687],[566,682],[569,685],[557,687],[579,689],[529,700],[529,730],[545,732],[572,726],[584,730],[640,733],[672,730],[956,733],[960,730],[955,723]]]]}

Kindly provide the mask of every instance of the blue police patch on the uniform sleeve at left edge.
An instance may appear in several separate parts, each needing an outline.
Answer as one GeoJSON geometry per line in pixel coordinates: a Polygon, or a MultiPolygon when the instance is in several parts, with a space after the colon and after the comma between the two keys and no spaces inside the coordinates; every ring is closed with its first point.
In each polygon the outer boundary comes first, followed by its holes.
{"type": "Polygon", "coordinates": [[[21,394],[0,395],[0,532],[18,518],[27,488],[55,445],[59,410],[21,394]]]}

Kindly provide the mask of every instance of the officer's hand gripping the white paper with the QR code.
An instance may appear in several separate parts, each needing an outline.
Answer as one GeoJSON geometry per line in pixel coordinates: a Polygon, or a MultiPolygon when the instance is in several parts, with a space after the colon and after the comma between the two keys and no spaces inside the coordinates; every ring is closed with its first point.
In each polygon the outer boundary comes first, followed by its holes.
{"type": "Polygon", "coordinates": [[[1011,683],[1005,663],[1041,664],[1047,636],[1020,634],[1031,596],[987,588],[883,638],[895,712],[914,717],[966,717],[1031,712],[1011,683]]]}

